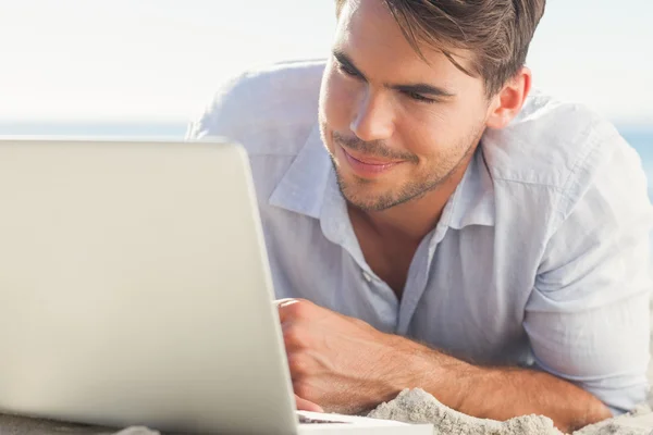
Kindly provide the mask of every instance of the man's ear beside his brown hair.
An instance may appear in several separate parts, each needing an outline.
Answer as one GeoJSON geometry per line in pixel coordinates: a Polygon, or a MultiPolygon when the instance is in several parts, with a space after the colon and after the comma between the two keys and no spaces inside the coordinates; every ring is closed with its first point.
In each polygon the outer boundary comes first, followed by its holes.
{"type": "Polygon", "coordinates": [[[490,128],[503,128],[517,116],[531,88],[531,71],[523,66],[492,98],[485,125],[490,128]]]}

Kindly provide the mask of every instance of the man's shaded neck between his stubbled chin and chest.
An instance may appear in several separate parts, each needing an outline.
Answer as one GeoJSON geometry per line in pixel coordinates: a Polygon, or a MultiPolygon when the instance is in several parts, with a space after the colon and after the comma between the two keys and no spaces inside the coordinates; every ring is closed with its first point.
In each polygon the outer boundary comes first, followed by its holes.
{"type": "Polygon", "coordinates": [[[382,211],[362,211],[349,206],[349,213],[358,214],[381,236],[402,237],[419,244],[438,225],[472,156],[461,161],[441,185],[419,198],[382,211]]]}

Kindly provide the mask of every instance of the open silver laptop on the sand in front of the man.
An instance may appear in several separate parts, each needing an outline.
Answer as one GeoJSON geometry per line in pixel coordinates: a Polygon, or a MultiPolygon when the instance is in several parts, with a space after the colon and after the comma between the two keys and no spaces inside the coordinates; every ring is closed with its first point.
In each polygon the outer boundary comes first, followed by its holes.
{"type": "Polygon", "coordinates": [[[296,411],[241,146],[5,138],[0,208],[0,412],[171,433],[432,433],[296,411]]]}

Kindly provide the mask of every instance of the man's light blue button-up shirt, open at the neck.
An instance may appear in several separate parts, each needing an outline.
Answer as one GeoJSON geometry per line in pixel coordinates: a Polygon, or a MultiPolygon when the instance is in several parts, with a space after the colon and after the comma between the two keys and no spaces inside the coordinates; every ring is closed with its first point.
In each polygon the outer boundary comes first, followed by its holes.
{"type": "Polygon", "coordinates": [[[188,132],[247,149],[276,296],[475,363],[544,370],[615,413],[643,401],[653,212],[616,129],[583,107],[529,97],[507,128],[484,134],[398,300],[362,256],[320,139],[323,69],[244,74],[188,132]]]}

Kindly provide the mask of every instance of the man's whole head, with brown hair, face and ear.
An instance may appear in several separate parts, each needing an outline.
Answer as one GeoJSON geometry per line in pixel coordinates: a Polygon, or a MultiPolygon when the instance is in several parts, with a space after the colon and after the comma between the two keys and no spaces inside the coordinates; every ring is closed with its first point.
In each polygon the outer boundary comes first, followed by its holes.
{"type": "Polygon", "coordinates": [[[336,0],[320,95],[345,198],[385,210],[461,172],[517,115],[545,0],[336,0]]]}

